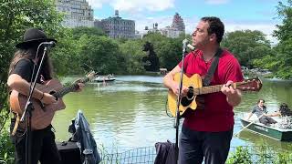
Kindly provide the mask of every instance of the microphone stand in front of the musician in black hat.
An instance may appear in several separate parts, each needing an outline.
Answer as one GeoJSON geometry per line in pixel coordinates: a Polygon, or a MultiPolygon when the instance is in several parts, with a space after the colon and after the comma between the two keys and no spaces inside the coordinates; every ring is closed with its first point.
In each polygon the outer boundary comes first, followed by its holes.
{"type": "MultiPolygon", "coordinates": [[[[40,44],[38,47],[40,47],[42,44],[40,44]]],[[[37,72],[36,72],[36,77],[34,79],[34,82],[30,82],[30,87],[29,87],[29,95],[27,97],[27,101],[26,101],[26,107],[24,110],[24,113],[22,114],[22,117],[20,119],[21,122],[23,122],[26,119],[26,164],[30,164],[31,163],[31,118],[32,118],[32,111],[35,109],[32,102],[31,102],[31,97],[33,95],[33,92],[35,90],[36,87],[36,79],[38,77],[39,74],[39,70],[42,67],[43,64],[43,60],[44,57],[46,55],[47,52],[47,46],[44,49],[44,53],[43,56],[41,58],[41,61],[39,63],[39,66],[37,68],[37,72]]],[[[37,56],[37,51],[36,51],[36,56],[37,56]]],[[[35,74],[35,69],[36,67],[34,67],[32,75],[31,75],[31,79],[34,77],[35,74]]]]}

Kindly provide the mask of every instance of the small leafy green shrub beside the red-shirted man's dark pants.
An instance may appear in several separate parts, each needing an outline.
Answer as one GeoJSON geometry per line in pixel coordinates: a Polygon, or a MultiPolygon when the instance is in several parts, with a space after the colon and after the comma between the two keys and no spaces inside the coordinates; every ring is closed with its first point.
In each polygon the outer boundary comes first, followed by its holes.
{"type": "Polygon", "coordinates": [[[252,164],[253,161],[251,157],[252,155],[250,154],[248,149],[240,146],[235,149],[235,152],[231,154],[231,157],[227,159],[226,163],[227,164],[237,164],[237,163],[252,164]]]}

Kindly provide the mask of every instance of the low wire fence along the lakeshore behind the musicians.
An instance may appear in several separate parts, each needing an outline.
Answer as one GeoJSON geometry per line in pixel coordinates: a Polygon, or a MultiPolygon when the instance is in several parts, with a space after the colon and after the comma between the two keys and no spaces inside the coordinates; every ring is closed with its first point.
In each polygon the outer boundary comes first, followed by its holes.
{"type": "MultiPolygon", "coordinates": [[[[276,149],[269,149],[268,147],[241,147],[246,154],[250,157],[250,162],[246,164],[292,164],[292,150],[276,152],[276,149]]],[[[100,152],[100,151],[99,151],[100,152]]],[[[100,164],[153,164],[156,158],[156,150],[154,147],[145,147],[138,149],[130,149],[124,152],[117,152],[113,154],[107,154],[101,151],[100,156],[102,161],[100,164]]],[[[228,158],[236,157],[243,158],[243,151],[238,151],[238,147],[232,147],[229,151],[228,158]],[[242,153],[239,155],[239,153],[242,153]]],[[[243,158],[244,159],[244,158],[243,158]]],[[[238,161],[238,160],[237,160],[238,161]]],[[[231,164],[232,162],[227,159],[231,164]]]]}

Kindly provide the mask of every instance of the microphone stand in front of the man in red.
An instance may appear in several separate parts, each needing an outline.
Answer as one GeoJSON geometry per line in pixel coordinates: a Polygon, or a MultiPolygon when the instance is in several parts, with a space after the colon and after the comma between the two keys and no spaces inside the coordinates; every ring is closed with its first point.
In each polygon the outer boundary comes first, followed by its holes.
{"type": "Polygon", "coordinates": [[[182,69],[181,69],[181,77],[180,77],[180,87],[179,87],[179,95],[177,96],[176,100],[176,118],[174,122],[175,128],[175,161],[178,163],[179,159],[179,127],[180,127],[180,104],[182,99],[182,88],[183,88],[183,65],[184,65],[184,57],[187,54],[186,46],[188,45],[187,40],[183,40],[183,57],[182,57],[182,69]]]}

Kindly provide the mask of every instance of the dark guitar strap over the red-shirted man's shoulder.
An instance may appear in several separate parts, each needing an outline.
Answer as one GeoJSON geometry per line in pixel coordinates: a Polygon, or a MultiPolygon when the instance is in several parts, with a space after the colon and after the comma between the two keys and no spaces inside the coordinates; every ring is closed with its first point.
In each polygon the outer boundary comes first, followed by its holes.
{"type": "Polygon", "coordinates": [[[217,50],[216,54],[214,55],[214,60],[212,62],[212,65],[208,69],[208,72],[205,75],[205,77],[203,78],[203,87],[206,87],[206,86],[210,85],[210,82],[212,80],[212,77],[214,75],[216,67],[218,66],[219,57],[221,56],[222,52],[223,52],[222,48],[218,47],[218,50],[217,50]]]}

